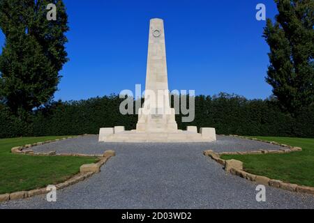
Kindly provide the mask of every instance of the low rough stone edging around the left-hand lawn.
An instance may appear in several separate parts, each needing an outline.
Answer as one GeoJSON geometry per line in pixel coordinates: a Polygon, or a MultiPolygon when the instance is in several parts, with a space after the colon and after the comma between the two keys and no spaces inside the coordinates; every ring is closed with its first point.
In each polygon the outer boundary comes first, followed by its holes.
{"type": "MultiPolygon", "coordinates": [[[[80,136],[79,136],[80,137],[80,136]]],[[[72,139],[76,137],[66,137],[63,139],[72,139]]],[[[59,139],[60,140],[60,139],[59,139]]],[[[116,155],[116,153],[112,150],[105,151],[103,155],[86,155],[86,154],[70,154],[70,153],[63,153],[63,154],[56,154],[55,151],[49,152],[49,153],[31,153],[29,152],[28,148],[31,148],[32,146],[40,146],[43,144],[51,143],[53,141],[59,141],[59,140],[50,140],[45,142],[40,142],[36,144],[26,145],[26,146],[19,146],[19,147],[13,147],[11,149],[12,153],[16,154],[24,154],[24,155],[51,155],[51,156],[75,156],[75,157],[99,157],[100,160],[94,164],[83,164],[80,167],[80,173],[76,174],[75,176],[72,176],[68,180],[66,180],[63,183],[58,183],[56,185],[57,190],[61,190],[65,187],[68,187],[70,185],[74,185],[75,183],[78,183],[82,180],[85,180],[86,178],[89,178],[93,174],[100,172],[100,167],[107,162],[107,160],[110,159],[110,157],[113,157],[116,155]],[[27,149],[27,150],[25,150],[27,149]]],[[[13,201],[18,199],[27,199],[29,197],[34,197],[40,194],[47,194],[46,187],[35,189],[35,190],[29,190],[29,191],[19,191],[19,192],[13,192],[10,194],[0,194],[0,203],[6,202],[6,201],[13,201]]]]}

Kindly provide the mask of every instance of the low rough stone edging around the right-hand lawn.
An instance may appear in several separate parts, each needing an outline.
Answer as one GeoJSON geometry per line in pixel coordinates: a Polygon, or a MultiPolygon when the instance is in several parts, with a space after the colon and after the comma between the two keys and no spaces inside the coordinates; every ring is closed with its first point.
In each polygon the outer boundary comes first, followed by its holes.
{"type": "MultiPolygon", "coordinates": [[[[299,151],[299,150],[298,150],[299,151]]],[[[291,192],[301,192],[307,194],[314,194],[314,187],[307,187],[302,185],[297,185],[293,183],[284,183],[281,180],[270,179],[266,176],[258,176],[255,174],[250,174],[243,170],[243,162],[239,160],[223,160],[220,158],[221,154],[262,154],[253,152],[238,152],[238,153],[215,153],[214,151],[208,150],[204,151],[203,154],[211,157],[213,160],[222,164],[225,171],[233,175],[239,176],[246,180],[251,180],[261,185],[269,185],[271,187],[281,188],[283,190],[289,190],[291,192]]],[[[269,151],[267,151],[269,152],[269,151]]],[[[292,152],[292,151],[291,151],[292,152]]],[[[285,151],[278,151],[278,153],[287,153],[285,151]]],[[[289,152],[288,152],[289,153],[289,152]]]]}

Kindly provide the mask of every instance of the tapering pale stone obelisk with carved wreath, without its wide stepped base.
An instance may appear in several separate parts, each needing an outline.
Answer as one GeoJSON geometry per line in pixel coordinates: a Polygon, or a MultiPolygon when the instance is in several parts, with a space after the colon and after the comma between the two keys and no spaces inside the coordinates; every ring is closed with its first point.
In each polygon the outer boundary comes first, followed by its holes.
{"type": "Polygon", "coordinates": [[[144,107],[139,111],[137,132],[177,132],[174,109],[170,108],[165,29],[163,20],[149,25],[146,89],[144,107]]]}

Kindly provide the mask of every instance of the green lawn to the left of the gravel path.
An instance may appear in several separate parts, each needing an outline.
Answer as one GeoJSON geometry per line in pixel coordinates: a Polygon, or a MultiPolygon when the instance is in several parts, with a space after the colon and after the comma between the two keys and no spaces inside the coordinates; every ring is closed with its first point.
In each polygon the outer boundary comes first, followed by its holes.
{"type": "Polygon", "coordinates": [[[31,156],[10,153],[14,146],[63,137],[0,139],[0,194],[56,185],[77,174],[96,157],[31,156]]]}

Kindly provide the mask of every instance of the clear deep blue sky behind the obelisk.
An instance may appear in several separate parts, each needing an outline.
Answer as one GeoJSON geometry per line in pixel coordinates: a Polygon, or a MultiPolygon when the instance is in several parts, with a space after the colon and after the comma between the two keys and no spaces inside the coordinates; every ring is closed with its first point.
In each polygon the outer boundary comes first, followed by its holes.
{"type": "MultiPolygon", "coordinates": [[[[267,98],[269,47],[255,6],[274,18],[273,0],[65,0],[70,61],[55,100],[80,100],[144,87],[149,19],[165,21],[170,89],[267,98]]],[[[0,33],[0,45],[4,43],[0,33]]]]}

